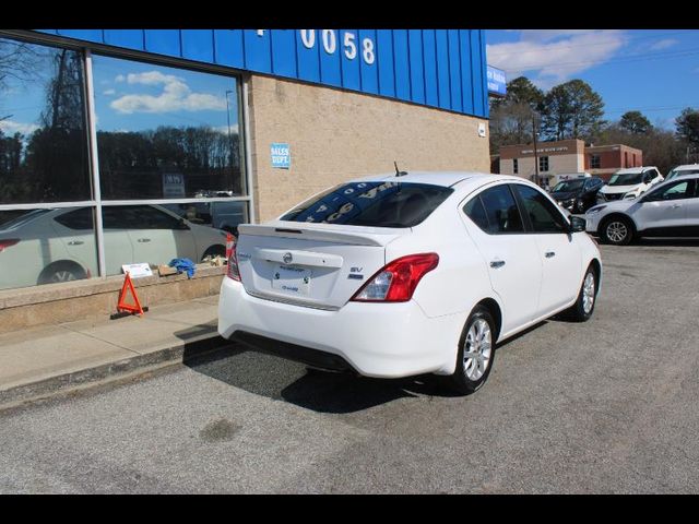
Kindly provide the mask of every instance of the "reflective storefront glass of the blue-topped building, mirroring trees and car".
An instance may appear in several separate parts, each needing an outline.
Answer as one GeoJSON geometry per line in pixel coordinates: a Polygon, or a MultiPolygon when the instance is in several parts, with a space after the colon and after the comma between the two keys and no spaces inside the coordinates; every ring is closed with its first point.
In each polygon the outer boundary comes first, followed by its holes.
{"type": "Polygon", "coordinates": [[[224,254],[250,207],[240,91],[0,36],[0,289],[224,254]]]}

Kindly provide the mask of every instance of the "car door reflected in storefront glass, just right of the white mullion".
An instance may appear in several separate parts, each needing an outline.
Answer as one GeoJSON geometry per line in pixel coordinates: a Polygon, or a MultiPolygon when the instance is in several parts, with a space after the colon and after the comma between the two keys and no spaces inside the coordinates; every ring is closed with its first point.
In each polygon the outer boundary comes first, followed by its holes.
{"type": "Polygon", "coordinates": [[[153,205],[125,206],[134,263],[167,264],[173,259],[198,262],[191,229],[177,216],[153,205]]]}

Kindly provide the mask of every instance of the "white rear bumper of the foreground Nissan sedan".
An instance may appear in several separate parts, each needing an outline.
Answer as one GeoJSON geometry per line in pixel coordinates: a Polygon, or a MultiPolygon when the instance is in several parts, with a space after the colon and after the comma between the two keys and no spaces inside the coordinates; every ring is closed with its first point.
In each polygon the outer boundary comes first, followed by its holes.
{"type": "Polygon", "coordinates": [[[348,302],[325,311],[252,297],[240,283],[224,277],[218,333],[313,366],[342,369],[344,361],[367,377],[450,374],[466,314],[430,319],[414,300],[348,302]]]}

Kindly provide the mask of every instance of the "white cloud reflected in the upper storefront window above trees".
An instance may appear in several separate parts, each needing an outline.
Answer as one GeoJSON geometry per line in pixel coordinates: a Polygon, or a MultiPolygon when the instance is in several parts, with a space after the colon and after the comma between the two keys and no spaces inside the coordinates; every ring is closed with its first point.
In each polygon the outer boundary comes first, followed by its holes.
{"type": "Polygon", "coordinates": [[[129,73],[126,78],[129,84],[163,85],[163,92],[157,95],[125,95],[114,100],[112,109],[123,114],[133,112],[169,112],[169,111],[201,111],[226,110],[226,99],[208,93],[192,93],[183,79],[159,71],[145,73],[129,73]]]}

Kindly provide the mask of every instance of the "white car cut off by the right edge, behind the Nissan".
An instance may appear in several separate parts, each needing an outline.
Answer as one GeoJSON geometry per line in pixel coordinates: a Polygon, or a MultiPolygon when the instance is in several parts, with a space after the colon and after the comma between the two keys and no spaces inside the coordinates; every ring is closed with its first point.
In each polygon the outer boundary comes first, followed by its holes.
{"type": "Polygon", "coordinates": [[[638,237],[699,237],[699,175],[682,175],[638,200],[590,207],[587,229],[625,246],[638,237]]]}

